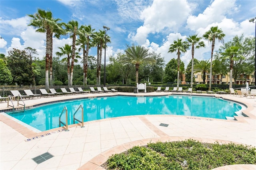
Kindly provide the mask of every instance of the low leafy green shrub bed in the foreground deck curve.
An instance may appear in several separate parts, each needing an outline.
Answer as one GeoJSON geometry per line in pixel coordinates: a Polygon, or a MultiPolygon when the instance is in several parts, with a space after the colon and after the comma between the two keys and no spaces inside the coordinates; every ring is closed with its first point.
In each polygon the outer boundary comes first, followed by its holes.
{"type": "Polygon", "coordinates": [[[114,154],[102,167],[108,170],[210,170],[232,164],[256,164],[256,148],[196,140],[156,142],[114,154]]]}

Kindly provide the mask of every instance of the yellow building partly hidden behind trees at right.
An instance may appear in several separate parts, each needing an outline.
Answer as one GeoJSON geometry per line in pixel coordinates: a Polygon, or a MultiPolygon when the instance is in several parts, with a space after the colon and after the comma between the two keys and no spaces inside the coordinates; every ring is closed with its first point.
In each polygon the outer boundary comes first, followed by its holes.
{"type": "MultiPolygon", "coordinates": [[[[194,74],[196,83],[203,83],[203,73],[195,73],[194,74]]],[[[209,84],[210,74],[206,73],[205,83],[209,84]]],[[[228,84],[230,82],[230,74],[227,75],[212,75],[212,84],[228,84]]],[[[234,79],[232,79],[232,84],[244,85],[246,82],[250,84],[254,83],[253,74],[246,75],[241,74],[240,77],[236,79],[236,83],[234,83],[234,79]]]]}

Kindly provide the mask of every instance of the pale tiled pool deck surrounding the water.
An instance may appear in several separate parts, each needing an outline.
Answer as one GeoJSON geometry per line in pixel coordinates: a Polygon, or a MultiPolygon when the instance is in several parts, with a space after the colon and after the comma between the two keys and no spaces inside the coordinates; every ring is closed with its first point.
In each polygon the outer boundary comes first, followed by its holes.
{"type": "MultiPolygon", "coordinates": [[[[24,100],[26,107],[66,99],[132,95],[154,96],[188,93],[101,93],[42,97],[24,100]]],[[[34,132],[5,114],[0,113],[0,169],[1,170],[102,170],[100,165],[108,156],[126,151],[132,146],[143,146],[148,142],[195,139],[202,142],[238,143],[256,147],[256,98],[224,94],[199,94],[222,97],[247,105],[243,111],[248,117],[236,116],[237,121],[191,116],[139,115],[102,119],[34,132]],[[168,127],[159,126],[160,123],[168,127]],[[37,164],[32,158],[49,152],[54,157],[37,164]]],[[[17,105],[17,102],[14,102],[17,105]]],[[[0,110],[7,102],[0,102],[0,110]]],[[[232,165],[215,170],[256,169],[256,165],[232,165]]]]}

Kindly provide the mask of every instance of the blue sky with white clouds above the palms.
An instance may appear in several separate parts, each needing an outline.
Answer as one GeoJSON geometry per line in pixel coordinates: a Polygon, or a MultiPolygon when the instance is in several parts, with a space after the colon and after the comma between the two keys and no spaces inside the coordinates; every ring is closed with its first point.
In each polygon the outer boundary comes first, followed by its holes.
{"type": "MultiPolygon", "coordinates": [[[[255,0],[0,0],[0,53],[8,55],[13,48],[32,47],[38,51],[36,57],[44,57],[46,34],[28,26],[31,18],[27,15],[35,14],[38,8],[50,10],[53,18],[61,22],[77,20],[80,26],[91,25],[95,31],[109,27],[107,64],[110,56],[124,53],[127,45],[132,44],[160,53],[167,64],[177,58],[176,52],[168,53],[174,40],[185,41],[195,34],[202,37],[212,26],[218,26],[226,34],[224,42],[236,35],[255,36],[255,24],[249,22],[256,17],[255,0]]],[[[202,40],[206,47],[196,49],[194,57],[208,60],[211,42],[202,40]]],[[[53,54],[66,43],[72,43],[69,36],[54,38],[53,54]]],[[[215,50],[220,45],[216,41],[215,50]]],[[[96,47],[90,49],[89,55],[97,55],[96,47]]],[[[191,49],[181,53],[185,66],[191,57],[191,49]]]]}

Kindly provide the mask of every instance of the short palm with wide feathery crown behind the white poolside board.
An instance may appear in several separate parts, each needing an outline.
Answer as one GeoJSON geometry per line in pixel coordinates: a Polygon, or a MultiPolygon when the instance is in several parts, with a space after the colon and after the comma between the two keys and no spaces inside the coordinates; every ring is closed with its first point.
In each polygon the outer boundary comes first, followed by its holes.
{"type": "Polygon", "coordinates": [[[142,47],[140,45],[137,46],[130,46],[128,47],[125,52],[126,55],[124,55],[120,59],[120,63],[123,65],[127,64],[133,64],[136,68],[136,83],[138,83],[139,79],[139,67],[141,64],[154,64],[156,63],[156,60],[152,57],[149,57],[148,53],[149,49],[146,49],[145,47],[142,47]]]}

